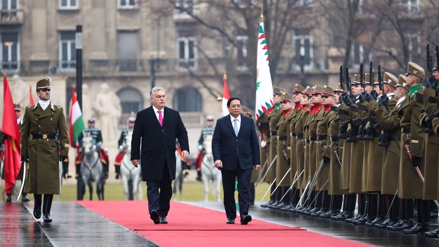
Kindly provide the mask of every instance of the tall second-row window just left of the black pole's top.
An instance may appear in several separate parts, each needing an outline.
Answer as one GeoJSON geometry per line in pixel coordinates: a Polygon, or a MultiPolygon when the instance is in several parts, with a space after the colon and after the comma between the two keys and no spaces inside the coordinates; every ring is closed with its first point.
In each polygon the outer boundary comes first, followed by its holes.
{"type": "Polygon", "coordinates": [[[76,70],[75,31],[59,33],[59,69],[62,72],[76,70]]]}

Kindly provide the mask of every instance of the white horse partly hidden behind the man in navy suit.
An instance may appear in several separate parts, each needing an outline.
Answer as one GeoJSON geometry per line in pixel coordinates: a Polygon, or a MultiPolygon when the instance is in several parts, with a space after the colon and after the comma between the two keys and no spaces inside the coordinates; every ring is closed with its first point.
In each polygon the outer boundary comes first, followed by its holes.
{"type": "Polygon", "coordinates": [[[217,202],[220,202],[219,186],[222,181],[221,172],[215,167],[214,156],[212,155],[212,135],[205,135],[203,145],[206,154],[201,164],[201,174],[204,184],[204,201],[208,202],[209,182],[212,181],[213,191],[215,191],[217,202]],[[214,186],[215,185],[215,186],[214,186]]]}

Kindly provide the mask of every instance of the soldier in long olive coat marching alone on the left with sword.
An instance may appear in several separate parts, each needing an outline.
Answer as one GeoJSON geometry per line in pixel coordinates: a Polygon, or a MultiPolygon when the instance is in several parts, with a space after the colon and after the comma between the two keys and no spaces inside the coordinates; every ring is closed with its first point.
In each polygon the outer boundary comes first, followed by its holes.
{"type": "Polygon", "coordinates": [[[26,162],[25,193],[33,193],[33,216],[41,217],[41,199],[44,194],[42,214],[44,222],[52,222],[50,208],[53,194],[60,194],[59,163],[68,155],[69,138],[67,134],[64,109],[53,105],[50,99],[50,79],[45,78],[36,83],[36,95],[39,100],[35,105],[26,107],[21,126],[20,153],[21,161],[26,162]],[[55,140],[59,132],[60,147],[55,140]],[[29,142],[29,137],[32,139],[29,142]],[[61,151],[61,155],[59,155],[61,151]]]}

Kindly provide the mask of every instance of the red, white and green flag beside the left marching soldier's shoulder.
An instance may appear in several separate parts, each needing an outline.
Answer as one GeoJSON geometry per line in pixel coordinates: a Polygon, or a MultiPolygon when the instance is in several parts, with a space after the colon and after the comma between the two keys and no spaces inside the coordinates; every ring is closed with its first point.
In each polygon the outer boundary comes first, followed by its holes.
{"type": "Polygon", "coordinates": [[[73,88],[69,120],[70,147],[79,148],[78,137],[83,129],[85,129],[85,125],[82,120],[82,111],[76,99],[75,88],[73,88]]]}

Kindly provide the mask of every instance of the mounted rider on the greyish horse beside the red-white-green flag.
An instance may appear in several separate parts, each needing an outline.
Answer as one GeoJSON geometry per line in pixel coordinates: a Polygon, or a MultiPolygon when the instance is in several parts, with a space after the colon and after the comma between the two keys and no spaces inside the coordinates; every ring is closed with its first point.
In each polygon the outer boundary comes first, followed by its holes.
{"type": "MultiPolygon", "coordinates": [[[[88,119],[87,124],[88,128],[83,129],[81,134],[79,134],[78,142],[80,145],[82,145],[82,138],[84,138],[84,135],[89,134],[94,142],[96,143],[96,148],[99,150],[100,159],[102,162],[102,165],[104,167],[104,178],[108,178],[108,164],[110,163],[108,161],[108,154],[105,152],[101,145],[102,145],[102,133],[101,130],[96,128],[94,126],[96,119],[94,117],[91,117],[88,119]]],[[[78,150],[78,155],[76,156],[76,179],[81,179],[81,162],[82,158],[84,157],[82,146],[78,150]]]]}

